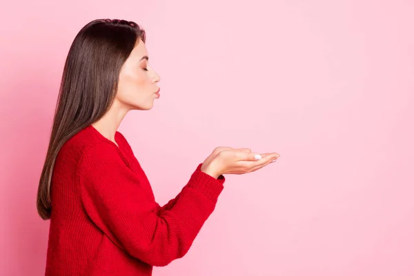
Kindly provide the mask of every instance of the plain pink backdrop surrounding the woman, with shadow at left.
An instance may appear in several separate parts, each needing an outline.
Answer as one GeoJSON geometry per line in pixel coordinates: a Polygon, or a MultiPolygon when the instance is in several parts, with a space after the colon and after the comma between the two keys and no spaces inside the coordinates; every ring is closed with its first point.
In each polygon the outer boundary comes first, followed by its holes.
{"type": "Polygon", "coordinates": [[[63,62],[88,21],[148,32],[161,98],[120,131],[160,204],[215,146],[228,176],[190,252],[154,275],[414,275],[414,3],[8,1],[0,17],[0,275],[43,275],[35,198],[63,62]]]}

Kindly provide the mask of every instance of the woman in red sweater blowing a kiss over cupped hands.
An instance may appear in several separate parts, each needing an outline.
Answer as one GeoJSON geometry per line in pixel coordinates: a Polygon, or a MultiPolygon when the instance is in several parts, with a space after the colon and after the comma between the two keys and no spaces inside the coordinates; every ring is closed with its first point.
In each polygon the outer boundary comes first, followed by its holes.
{"type": "Polygon", "coordinates": [[[277,153],[219,147],[181,193],[155,202],[148,179],[117,131],[129,110],[150,110],[159,75],[136,23],[95,20],[68,53],[37,209],[50,219],[46,275],[151,275],[190,248],[224,188],[277,153]]]}

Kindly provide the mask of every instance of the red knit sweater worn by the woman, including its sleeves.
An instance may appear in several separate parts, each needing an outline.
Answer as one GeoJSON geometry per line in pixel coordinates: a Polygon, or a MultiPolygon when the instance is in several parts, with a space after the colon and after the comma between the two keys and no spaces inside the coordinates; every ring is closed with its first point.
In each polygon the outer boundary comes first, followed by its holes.
{"type": "Polygon", "coordinates": [[[88,126],[63,145],[52,175],[46,275],[151,275],[183,257],[215,208],[219,179],[197,166],[165,206],[130,145],[88,126]]]}

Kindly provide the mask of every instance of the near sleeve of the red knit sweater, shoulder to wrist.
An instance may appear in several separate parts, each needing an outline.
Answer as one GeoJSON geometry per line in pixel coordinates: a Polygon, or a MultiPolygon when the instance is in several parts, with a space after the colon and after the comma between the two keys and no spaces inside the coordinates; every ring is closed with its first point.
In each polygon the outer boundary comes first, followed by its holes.
{"type": "Polygon", "coordinates": [[[225,181],[198,166],[181,193],[159,208],[111,144],[92,146],[79,164],[81,200],[90,219],[117,246],[152,266],[166,266],[188,252],[225,181]]]}

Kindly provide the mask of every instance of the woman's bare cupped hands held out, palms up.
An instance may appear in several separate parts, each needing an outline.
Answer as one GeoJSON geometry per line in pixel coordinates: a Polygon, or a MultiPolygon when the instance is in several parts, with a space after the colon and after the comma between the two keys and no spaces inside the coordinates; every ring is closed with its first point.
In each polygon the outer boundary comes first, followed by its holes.
{"type": "Polygon", "coordinates": [[[215,178],[224,174],[242,175],[244,173],[254,172],[260,168],[264,168],[264,166],[267,166],[272,161],[276,161],[280,156],[277,152],[258,155],[257,153],[251,152],[248,148],[227,148],[217,151],[218,153],[215,157],[208,157],[203,166],[201,166],[201,170],[215,178]]]}

